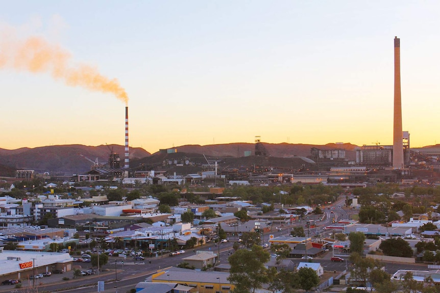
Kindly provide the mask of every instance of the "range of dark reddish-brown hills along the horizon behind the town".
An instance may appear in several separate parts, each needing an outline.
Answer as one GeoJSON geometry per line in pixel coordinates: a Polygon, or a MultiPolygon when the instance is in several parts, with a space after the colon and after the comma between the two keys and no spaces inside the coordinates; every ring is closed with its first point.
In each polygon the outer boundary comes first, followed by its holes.
{"type": "MultiPolygon", "coordinates": [[[[309,164],[302,157],[310,156],[312,147],[322,150],[345,149],[346,156],[350,160],[356,157],[356,149],[359,146],[352,144],[270,144],[262,143],[269,153],[267,157],[254,156],[255,144],[252,143],[230,143],[218,145],[184,145],[178,146],[177,153],[156,152],[151,155],[142,148],[130,148],[130,167],[133,169],[161,169],[168,165],[168,160],[180,160],[184,164],[185,158],[192,164],[207,164],[204,155],[211,161],[222,162],[223,168],[249,167],[254,164],[260,166],[271,166],[284,169],[295,169],[303,164],[309,164]],[[245,157],[245,151],[251,151],[251,156],[245,157]]],[[[440,148],[440,145],[427,146],[424,148],[440,148]]],[[[0,175],[13,176],[16,169],[30,169],[36,172],[50,172],[51,174],[71,175],[85,173],[90,170],[92,162],[98,159],[99,163],[106,164],[110,149],[119,153],[121,165],[124,163],[123,145],[57,145],[37,148],[19,148],[7,150],[0,148],[0,175]]],[[[419,148],[423,149],[423,148],[419,148]]],[[[185,167],[186,174],[197,172],[197,168],[185,167]]],[[[170,168],[172,169],[172,168],[170,168]]],[[[182,168],[180,168],[182,169],[182,168]]],[[[170,170],[172,171],[172,170],[170,170]]],[[[184,173],[184,172],[181,172],[184,173]]]]}

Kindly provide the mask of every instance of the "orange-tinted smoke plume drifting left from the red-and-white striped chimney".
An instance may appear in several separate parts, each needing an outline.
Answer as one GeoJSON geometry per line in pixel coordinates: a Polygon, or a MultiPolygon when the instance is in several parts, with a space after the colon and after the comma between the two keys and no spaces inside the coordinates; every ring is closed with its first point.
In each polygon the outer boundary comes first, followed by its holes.
{"type": "Polygon", "coordinates": [[[0,35],[0,68],[49,73],[69,86],[111,93],[128,103],[128,95],[117,79],[103,76],[89,65],[71,65],[70,59],[66,49],[50,44],[41,37],[17,40],[7,34],[0,35]]]}

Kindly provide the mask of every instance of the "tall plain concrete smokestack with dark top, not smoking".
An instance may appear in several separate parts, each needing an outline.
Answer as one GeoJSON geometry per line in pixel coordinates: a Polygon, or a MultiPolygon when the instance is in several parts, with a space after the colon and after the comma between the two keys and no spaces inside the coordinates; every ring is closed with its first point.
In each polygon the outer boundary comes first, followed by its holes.
{"type": "Polygon", "coordinates": [[[402,97],[400,94],[400,39],[394,38],[393,168],[403,168],[402,97]]]}

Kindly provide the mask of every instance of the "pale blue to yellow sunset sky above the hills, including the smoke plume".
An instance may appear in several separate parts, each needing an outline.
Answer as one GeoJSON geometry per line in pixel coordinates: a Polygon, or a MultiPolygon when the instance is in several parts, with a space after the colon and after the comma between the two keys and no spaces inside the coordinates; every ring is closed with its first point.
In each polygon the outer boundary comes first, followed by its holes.
{"type": "Polygon", "coordinates": [[[439,13],[438,1],[4,1],[0,148],[124,145],[126,103],[130,147],[151,153],[256,136],[390,145],[395,36],[403,130],[434,145],[439,13]]]}

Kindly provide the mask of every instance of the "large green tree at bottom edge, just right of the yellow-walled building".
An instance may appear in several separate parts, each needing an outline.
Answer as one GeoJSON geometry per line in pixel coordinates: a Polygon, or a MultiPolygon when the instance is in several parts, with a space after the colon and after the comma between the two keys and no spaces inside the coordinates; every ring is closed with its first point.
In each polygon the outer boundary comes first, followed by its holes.
{"type": "Polygon", "coordinates": [[[252,251],[239,249],[232,254],[228,258],[231,265],[228,281],[235,285],[234,293],[255,292],[270,281],[271,271],[264,267],[269,259],[269,253],[257,245],[252,251]]]}

